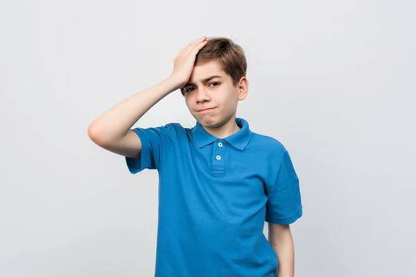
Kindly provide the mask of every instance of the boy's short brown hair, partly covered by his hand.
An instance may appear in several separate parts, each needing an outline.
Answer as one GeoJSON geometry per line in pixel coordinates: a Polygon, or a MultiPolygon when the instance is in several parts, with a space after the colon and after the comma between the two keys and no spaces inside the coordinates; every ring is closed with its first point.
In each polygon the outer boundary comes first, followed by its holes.
{"type": "Polygon", "coordinates": [[[207,44],[196,55],[194,66],[211,60],[218,60],[221,69],[231,77],[234,87],[247,73],[243,48],[227,37],[207,37],[207,44]]]}

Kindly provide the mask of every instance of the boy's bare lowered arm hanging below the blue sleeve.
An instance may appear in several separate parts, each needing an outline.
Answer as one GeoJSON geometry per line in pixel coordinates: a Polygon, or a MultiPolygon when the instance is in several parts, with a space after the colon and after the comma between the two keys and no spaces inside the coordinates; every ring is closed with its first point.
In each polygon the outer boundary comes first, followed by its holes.
{"type": "Polygon", "coordinates": [[[294,277],[295,247],[289,224],[268,222],[268,242],[277,255],[277,277],[294,277]]]}

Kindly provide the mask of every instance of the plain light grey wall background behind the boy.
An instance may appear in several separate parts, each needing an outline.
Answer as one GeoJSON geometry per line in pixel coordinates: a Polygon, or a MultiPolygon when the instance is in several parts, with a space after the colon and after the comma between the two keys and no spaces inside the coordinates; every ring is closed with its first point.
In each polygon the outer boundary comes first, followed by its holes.
{"type": "MultiPolygon", "coordinates": [[[[2,1],[0,276],[153,276],[157,171],[130,175],[87,127],[202,35],[245,49],[237,116],[291,153],[295,276],[415,276],[415,8],[2,1]]],[[[139,125],[169,122],[196,123],[180,91],[139,125]]]]}

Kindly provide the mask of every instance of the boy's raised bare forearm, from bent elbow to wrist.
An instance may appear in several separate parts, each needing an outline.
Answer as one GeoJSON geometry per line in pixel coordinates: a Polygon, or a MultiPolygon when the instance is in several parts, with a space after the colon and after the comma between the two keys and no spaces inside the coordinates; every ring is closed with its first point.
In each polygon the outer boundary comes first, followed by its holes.
{"type": "Polygon", "coordinates": [[[89,134],[105,143],[114,141],[124,136],[129,129],[153,107],[172,91],[180,88],[180,82],[170,75],[168,78],[155,84],[153,87],[144,89],[129,98],[119,102],[117,105],[105,111],[96,118],[88,127],[89,134]]]}

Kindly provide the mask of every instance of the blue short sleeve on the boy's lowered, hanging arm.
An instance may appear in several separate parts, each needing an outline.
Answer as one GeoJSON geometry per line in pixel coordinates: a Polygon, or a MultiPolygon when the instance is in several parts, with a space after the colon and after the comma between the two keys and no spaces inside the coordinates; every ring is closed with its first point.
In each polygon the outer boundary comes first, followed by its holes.
{"type": "Polygon", "coordinates": [[[289,153],[284,152],[277,177],[268,191],[266,222],[291,224],[302,216],[302,200],[295,168],[289,153]]]}

